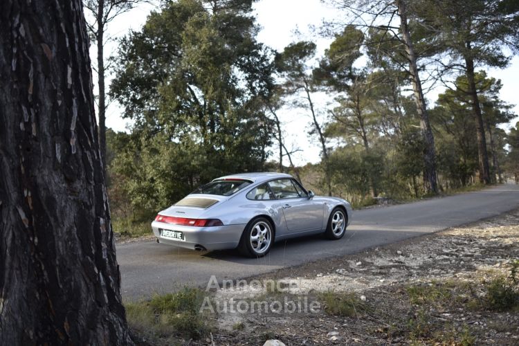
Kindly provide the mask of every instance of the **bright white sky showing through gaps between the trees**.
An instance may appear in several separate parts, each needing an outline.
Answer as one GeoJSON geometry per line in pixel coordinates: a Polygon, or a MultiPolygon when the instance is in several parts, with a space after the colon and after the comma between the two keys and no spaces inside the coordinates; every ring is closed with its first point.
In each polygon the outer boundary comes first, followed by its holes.
{"type": "MultiPolygon", "coordinates": [[[[258,41],[282,51],[282,49],[291,42],[297,42],[301,39],[312,40],[316,42],[318,55],[322,55],[325,49],[331,43],[331,39],[320,37],[316,30],[319,28],[323,20],[336,18],[339,14],[334,8],[323,4],[320,0],[260,0],[254,6],[257,24],[261,30],[258,34],[258,41]]],[[[131,10],[120,17],[117,17],[109,24],[109,36],[113,38],[122,37],[129,30],[139,30],[145,24],[147,15],[156,7],[152,4],[145,3],[134,10],[131,10]]],[[[116,53],[116,41],[106,44],[106,51],[109,54],[116,53]]],[[[105,55],[107,55],[105,53],[105,55]]],[[[95,47],[91,48],[91,59],[95,61],[95,47]]],[[[490,77],[502,80],[501,98],[509,104],[515,104],[513,108],[516,114],[519,114],[519,57],[514,57],[507,69],[486,69],[490,77]]],[[[95,78],[95,76],[94,76],[95,78]]],[[[109,77],[110,79],[111,77],[109,77]]],[[[109,80],[107,80],[107,86],[109,80]]],[[[95,86],[97,87],[97,86],[95,86]]],[[[428,102],[432,104],[437,95],[443,91],[440,88],[430,91],[426,95],[428,102]]],[[[330,101],[322,95],[316,95],[316,108],[325,109],[330,101]]],[[[116,102],[112,102],[107,109],[107,127],[115,131],[127,131],[129,125],[127,120],[121,118],[124,111],[118,107],[116,102]]],[[[307,133],[310,129],[311,118],[304,110],[282,109],[278,114],[282,120],[285,131],[285,144],[290,149],[298,149],[293,154],[293,160],[296,165],[304,165],[305,163],[318,163],[320,161],[320,144],[318,138],[309,138],[307,133]],[[301,136],[304,134],[304,136],[301,136]]],[[[324,120],[323,116],[321,120],[324,120]]],[[[512,120],[511,124],[504,125],[509,128],[519,121],[519,118],[512,120]]],[[[273,159],[275,159],[275,149],[273,149],[273,159]]],[[[288,165],[288,162],[284,162],[288,165]]]]}

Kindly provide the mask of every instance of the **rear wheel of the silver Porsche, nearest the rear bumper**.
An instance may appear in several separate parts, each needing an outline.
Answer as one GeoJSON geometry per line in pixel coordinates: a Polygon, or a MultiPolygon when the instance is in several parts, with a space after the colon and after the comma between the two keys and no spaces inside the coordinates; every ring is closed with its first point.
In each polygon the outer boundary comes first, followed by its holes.
{"type": "Polygon", "coordinates": [[[238,250],[246,257],[263,257],[271,251],[274,242],[274,228],[265,217],[252,219],[245,227],[238,250]]]}

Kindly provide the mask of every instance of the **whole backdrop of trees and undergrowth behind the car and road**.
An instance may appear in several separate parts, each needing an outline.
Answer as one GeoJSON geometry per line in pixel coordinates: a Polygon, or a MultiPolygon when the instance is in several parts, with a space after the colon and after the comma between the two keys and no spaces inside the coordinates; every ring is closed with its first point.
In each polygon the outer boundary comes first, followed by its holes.
{"type": "Polygon", "coordinates": [[[486,73],[516,52],[515,3],[374,1],[353,17],[362,3],[330,1],[345,21],[323,24],[322,55],[312,40],[259,42],[245,0],[165,1],[120,39],[109,95],[133,125],[106,132],[114,230],[145,234],[158,210],[237,172],[289,172],[356,208],[519,181],[517,125],[502,129],[516,114],[486,73]],[[356,22],[376,11],[373,27],[356,22]],[[445,89],[421,107],[426,94],[408,90],[432,82],[445,89]],[[294,164],[287,111],[306,119],[298,141],[319,145],[319,163],[294,164]]]}

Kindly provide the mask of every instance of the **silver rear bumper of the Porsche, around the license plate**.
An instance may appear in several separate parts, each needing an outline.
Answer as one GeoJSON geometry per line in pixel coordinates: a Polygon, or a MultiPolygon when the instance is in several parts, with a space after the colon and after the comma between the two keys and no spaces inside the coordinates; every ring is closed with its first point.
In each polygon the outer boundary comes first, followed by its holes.
{"type": "Polygon", "coordinates": [[[194,250],[194,247],[197,245],[203,246],[207,250],[236,248],[245,226],[240,224],[217,227],[192,227],[165,224],[158,221],[152,222],[153,234],[158,242],[191,250],[194,250]],[[185,240],[162,237],[159,228],[163,230],[178,230],[183,233],[185,240]]]}

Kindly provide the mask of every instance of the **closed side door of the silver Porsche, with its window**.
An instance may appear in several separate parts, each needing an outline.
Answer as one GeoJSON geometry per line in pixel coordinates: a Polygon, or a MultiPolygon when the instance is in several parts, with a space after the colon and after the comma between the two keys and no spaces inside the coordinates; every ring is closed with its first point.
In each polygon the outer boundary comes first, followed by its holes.
{"type": "Polygon", "coordinates": [[[324,206],[313,201],[296,181],[290,178],[275,179],[268,185],[281,202],[286,227],[290,233],[299,233],[322,228],[324,206]]]}

